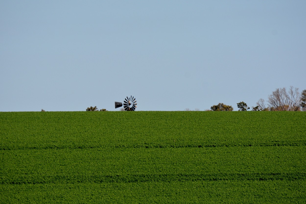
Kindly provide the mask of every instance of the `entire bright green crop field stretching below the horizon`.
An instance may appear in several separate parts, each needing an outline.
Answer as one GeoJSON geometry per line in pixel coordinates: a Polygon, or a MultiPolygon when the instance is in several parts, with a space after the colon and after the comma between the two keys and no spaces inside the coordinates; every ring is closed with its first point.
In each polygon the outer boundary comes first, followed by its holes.
{"type": "Polygon", "coordinates": [[[0,203],[306,203],[306,112],[0,112],[0,203]]]}

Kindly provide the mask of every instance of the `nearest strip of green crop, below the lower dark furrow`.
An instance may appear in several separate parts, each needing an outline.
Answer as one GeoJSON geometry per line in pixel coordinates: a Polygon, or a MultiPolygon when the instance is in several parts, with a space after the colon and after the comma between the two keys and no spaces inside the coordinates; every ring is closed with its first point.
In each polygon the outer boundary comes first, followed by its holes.
{"type": "Polygon", "coordinates": [[[306,201],[305,186],[305,180],[0,184],[0,203],[302,204],[306,201]]]}

